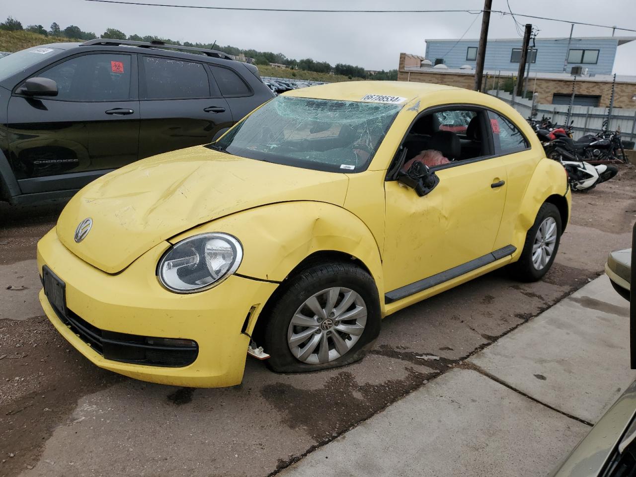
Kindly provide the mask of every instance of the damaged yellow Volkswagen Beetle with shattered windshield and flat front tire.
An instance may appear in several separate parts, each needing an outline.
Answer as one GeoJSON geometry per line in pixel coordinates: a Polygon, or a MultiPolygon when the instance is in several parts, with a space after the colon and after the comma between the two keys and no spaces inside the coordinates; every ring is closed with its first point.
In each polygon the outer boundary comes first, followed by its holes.
{"type": "Polygon", "coordinates": [[[97,366],[230,386],[248,350],[342,366],[412,303],[506,265],[540,279],[569,213],[563,167],[498,99],[314,86],[79,191],[38,244],[39,298],[97,366]]]}

